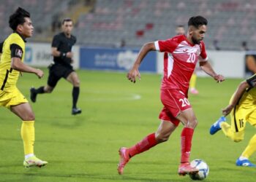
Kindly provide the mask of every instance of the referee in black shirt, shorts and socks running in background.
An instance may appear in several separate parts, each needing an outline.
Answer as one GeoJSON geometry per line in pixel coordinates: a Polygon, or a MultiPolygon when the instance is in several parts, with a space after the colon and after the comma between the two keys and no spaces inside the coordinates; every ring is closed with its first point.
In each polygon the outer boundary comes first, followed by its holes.
{"type": "Polygon", "coordinates": [[[46,86],[35,89],[31,87],[30,98],[33,103],[37,100],[37,94],[53,92],[54,87],[59,79],[64,78],[72,83],[72,114],[80,114],[82,111],[77,108],[78,96],[80,90],[80,81],[78,74],[73,70],[71,63],[73,62],[72,46],[76,42],[75,36],[72,36],[73,23],[70,18],[62,21],[63,32],[53,37],[51,52],[54,64],[49,67],[48,84],[46,86]]]}

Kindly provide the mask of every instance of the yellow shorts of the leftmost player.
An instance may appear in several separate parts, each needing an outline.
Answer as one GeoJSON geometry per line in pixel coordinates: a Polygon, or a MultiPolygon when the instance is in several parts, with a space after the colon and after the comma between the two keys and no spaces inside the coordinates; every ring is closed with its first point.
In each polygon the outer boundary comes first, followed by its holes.
{"type": "Polygon", "coordinates": [[[24,95],[15,88],[12,92],[4,92],[0,90],[0,106],[10,108],[11,106],[17,106],[20,103],[28,103],[24,95]]]}

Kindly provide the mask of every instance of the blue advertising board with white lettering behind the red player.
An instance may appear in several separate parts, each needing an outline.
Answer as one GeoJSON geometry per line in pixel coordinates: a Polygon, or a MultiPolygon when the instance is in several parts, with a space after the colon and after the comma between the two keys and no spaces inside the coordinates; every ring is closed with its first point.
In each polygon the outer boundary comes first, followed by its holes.
{"type": "MultiPolygon", "coordinates": [[[[132,68],[139,50],[80,48],[80,68],[94,70],[127,71],[132,68]]],[[[140,71],[157,72],[157,53],[148,52],[140,71]]]]}

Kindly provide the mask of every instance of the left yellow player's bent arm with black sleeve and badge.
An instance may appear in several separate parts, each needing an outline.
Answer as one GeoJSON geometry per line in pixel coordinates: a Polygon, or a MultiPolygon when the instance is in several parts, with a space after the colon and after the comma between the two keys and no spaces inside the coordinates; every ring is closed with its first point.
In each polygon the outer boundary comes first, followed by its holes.
{"type": "Polygon", "coordinates": [[[26,73],[37,74],[39,78],[42,78],[42,76],[44,75],[43,71],[33,68],[31,66],[27,66],[26,64],[22,63],[21,58],[23,55],[23,50],[21,49],[20,46],[18,46],[17,44],[12,44],[10,46],[10,49],[11,49],[11,58],[12,58],[11,60],[12,69],[26,72],[26,73]]]}

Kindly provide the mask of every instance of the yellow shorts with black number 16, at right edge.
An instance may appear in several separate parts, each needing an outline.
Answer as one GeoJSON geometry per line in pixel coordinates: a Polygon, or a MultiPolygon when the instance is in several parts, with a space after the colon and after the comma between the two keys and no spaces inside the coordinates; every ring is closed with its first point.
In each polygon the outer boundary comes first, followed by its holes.
{"type": "Polygon", "coordinates": [[[254,100],[249,98],[241,98],[238,105],[233,108],[230,113],[231,130],[233,132],[240,132],[245,129],[246,122],[256,125],[256,105],[254,100]]]}

